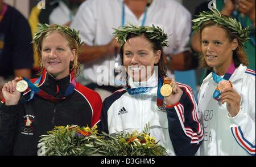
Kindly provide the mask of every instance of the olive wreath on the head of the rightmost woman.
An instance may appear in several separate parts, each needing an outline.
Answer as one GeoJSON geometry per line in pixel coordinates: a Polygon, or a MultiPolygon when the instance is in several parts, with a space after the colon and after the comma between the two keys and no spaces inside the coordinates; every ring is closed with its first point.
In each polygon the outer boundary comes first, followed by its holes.
{"type": "Polygon", "coordinates": [[[195,32],[200,30],[200,27],[203,23],[207,22],[208,20],[213,20],[217,24],[224,25],[225,27],[229,28],[232,33],[236,33],[238,40],[241,42],[242,45],[244,45],[244,43],[250,39],[249,25],[245,28],[242,28],[240,22],[233,18],[223,17],[220,14],[220,11],[217,10],[217,8],[211,8],[210,11],[200,12],[200,15],[197,15],[197,17],[198,18],[192,20],[192,29],[195,32]]]}

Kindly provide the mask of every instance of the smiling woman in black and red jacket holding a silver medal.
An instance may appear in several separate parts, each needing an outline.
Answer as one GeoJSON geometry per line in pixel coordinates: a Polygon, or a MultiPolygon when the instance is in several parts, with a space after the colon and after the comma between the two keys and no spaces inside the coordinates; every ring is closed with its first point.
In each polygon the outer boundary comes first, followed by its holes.
{"type": "Polygon", "coordinates": [[[79,33],[39,24],[32,42],[40,55],[40,76],[31,80],[21,76],[4,85],[0,155],[36,155],[39,136],[55,126],[100,122],[101,97],[75,80],[82,44],[79,33]]]}

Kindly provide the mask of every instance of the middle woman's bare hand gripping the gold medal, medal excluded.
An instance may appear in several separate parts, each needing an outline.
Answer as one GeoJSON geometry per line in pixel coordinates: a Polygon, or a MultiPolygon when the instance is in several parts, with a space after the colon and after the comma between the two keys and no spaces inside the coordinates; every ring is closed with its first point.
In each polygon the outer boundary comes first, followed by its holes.
{"type": "Polygon", "coordinates": [[[174,78],[166,77],[164,78],[164,80],[170,80],[170,85],[172,87],[171,95],[164,97],[164,100],[166,101],[166,105],[174,105],[180,101],[180,97],[182,96],[183,91],[181,90],[179,85],[177,85],[174,78]]]}

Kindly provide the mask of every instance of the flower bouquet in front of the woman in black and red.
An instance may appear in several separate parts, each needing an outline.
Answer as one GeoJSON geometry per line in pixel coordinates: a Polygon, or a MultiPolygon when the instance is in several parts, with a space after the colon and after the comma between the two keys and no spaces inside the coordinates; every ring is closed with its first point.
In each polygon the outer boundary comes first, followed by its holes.
{"type": "Polygon", "coordinates": [[[97,126],[55,126],[47,135],[40,136],[38,155],[101,155],[94,143],[97,138],[101,138],[97,134],[97,126]]]}

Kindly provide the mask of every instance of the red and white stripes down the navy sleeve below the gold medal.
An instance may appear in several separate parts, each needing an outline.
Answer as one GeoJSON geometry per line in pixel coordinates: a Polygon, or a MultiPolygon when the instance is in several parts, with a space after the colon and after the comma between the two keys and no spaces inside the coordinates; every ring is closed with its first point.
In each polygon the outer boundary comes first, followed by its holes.
{"type": "Polygon", "coordinates": [[[197,110],[196,110],[196,101],[195,101],[195,98],[193,96],[193,91],[191,90],[190,87],[188,87],[187,85],[185,84],[181,84],[181,83],[178,83],[178,85],[180,87],[183,87],[185,88],[185,92],[187,93],[189,99],[192,101],[192,104],[193,104],[193,109],[192,109],[192,112],[191,112],[191,115],[192,115],[192,119],[193,121],[197,122],[197,134],[199,135],[199,138],[203,140],[203,138],[201,138],[201,136],[203,136],[203,129],[200,125],[200,122],[199,122],[199,117],[197,115],[197,110]]]}

